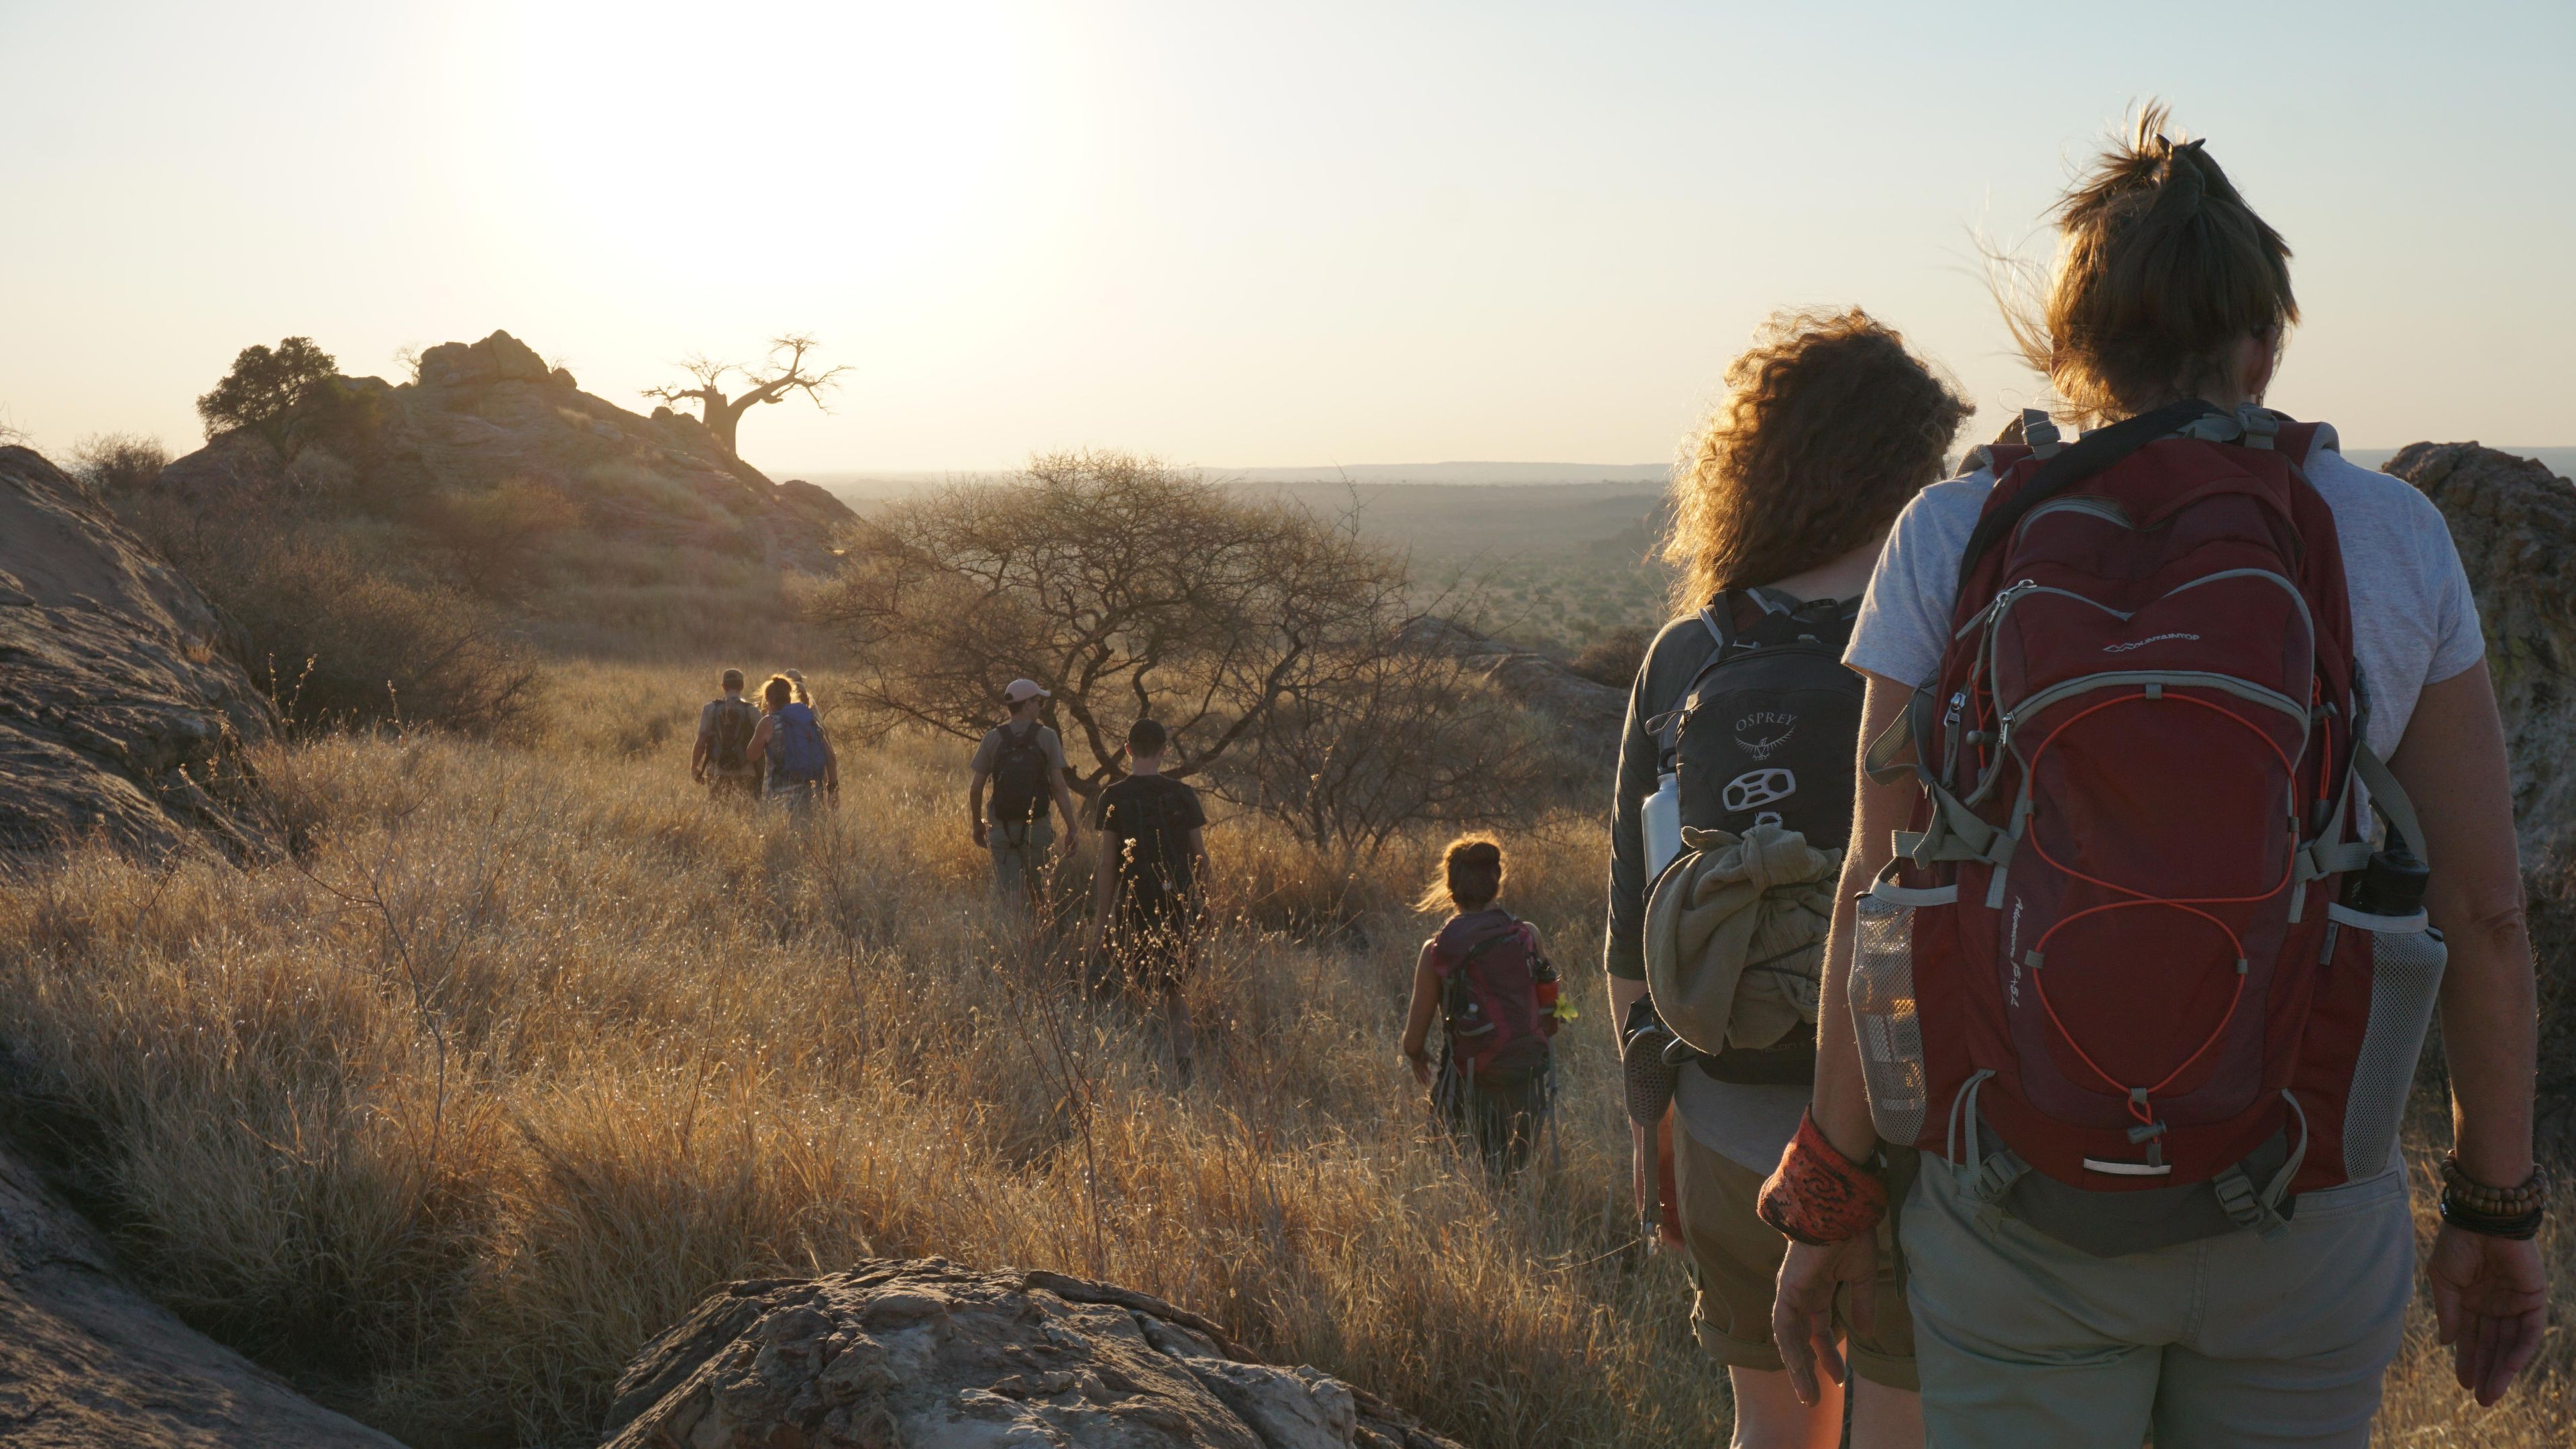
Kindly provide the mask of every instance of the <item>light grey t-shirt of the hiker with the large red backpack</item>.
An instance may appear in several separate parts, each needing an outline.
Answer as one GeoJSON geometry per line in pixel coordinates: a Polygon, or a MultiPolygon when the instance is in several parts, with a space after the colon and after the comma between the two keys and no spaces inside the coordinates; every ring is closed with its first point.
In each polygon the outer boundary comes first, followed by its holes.
{"type": "MultiPolygon", "coordinates": [[[[2352,652],[2370,688],[2370,750],[2385,761],[2424,686],[2486,657],[2478,603],[2442,511],[2414,485],[2344,454],[2308,459],[2308,482],[2334,511],[2344,547],[2352,652]]],[[[1950,637],[1958,559],[1991,490],[1994,474],[1978,469],[1914,495],[1878,554],[1842,663],[1909,688],[1932,678],[1950,637]]]]}

